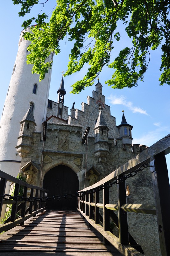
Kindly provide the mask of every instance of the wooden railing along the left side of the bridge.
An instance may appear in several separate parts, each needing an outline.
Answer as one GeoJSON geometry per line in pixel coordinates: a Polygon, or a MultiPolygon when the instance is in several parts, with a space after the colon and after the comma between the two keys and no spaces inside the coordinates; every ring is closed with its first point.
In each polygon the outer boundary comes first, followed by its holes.
{"type": "MultiPolygon", "coordinates": [[[[0,171],[0,178],[1,178],[0,195],[5,194],[7,184],[9,186],[9,182],[7,181],[10,181],[11,183],[15,184],[14,191],[13,191],[14,196],[19,195],[19,189],[21,186],[23,187],[23,195],[21,196],[25,198],[47,196],[47,190],[30,185],[2,171],[0,171]]],[[[8,198],[8,196],[6,196],[5,198],[8,198]]],[[[23,225],[25,220],[27,220],[32,216],[36,216],[37,213],[39,213],[40,211],[43,211],[46,208],[46,202],[41,202],[41,201],[38,202],[33,200],[32,202],[31,200],[30,202],[25,200],[17,202],[15,200],[4,200],[4,198],[1,196],[0,197],[0,215],[1,215],[2,207],[4,204],[12,204],[12,209],[11,209],[11,216],[4,222],[4,224],[0,225],[0,233],[2,231],[11,229],[18,224],[23,225]],[[16,218],[16,214],[18,212],[20,213],[20,217],[16,218]]]]}

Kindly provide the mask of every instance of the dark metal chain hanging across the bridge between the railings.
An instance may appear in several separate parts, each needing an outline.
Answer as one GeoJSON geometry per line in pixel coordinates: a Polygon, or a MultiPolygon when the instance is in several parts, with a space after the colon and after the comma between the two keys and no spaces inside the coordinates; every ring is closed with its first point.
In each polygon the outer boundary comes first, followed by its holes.
{"type": "Polygon", "coordinates": [[[126,181],[130,177],[134,177],[138,172],[144,170],[147,167],[152,167],[151,165],[148,165],[148,163],[144,163],[141,165],[138,169],[131,171],[129,174],[122,175],[121,177],[117,178],[113,182],[106,182],[104,185],[99,186],[97,188],[92,188],[87,191],[80,191],[77,192],[76,194],[66,194],[65,196],[52,196],[52,197],[23,197],[23,196],[11,196],[9,194],[5,195],[0,195],[0,197],[3,197],[4,200],[15,200],[16,202],[21,202],[21,201],[28,201],[28,202],[47,202],[47,201],[60,201],[61,199],[72,199],[73,197],[81,197],[85,196],[87,194],[95,193],[97,191],[101,191],[104,188],[111,188],[114,184],[120,184],[123,181],[126,181]]]}

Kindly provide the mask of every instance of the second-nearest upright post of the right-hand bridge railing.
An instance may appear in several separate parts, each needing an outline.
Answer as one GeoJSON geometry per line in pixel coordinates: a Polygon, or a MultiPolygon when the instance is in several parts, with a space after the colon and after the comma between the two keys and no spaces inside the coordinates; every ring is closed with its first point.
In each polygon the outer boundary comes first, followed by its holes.
{"type": "MultiPolygon", "coordinates": [[[[120,176],[121,177],[121,176],[120,176]]],[[[128,221],[127,212],[121,209],[123,204],[126,204],[126,184],[125,181],[118,183],[118,219],[119,219],[119,242],[122,245],[129,244],[128,237],[128,221]]]]}

